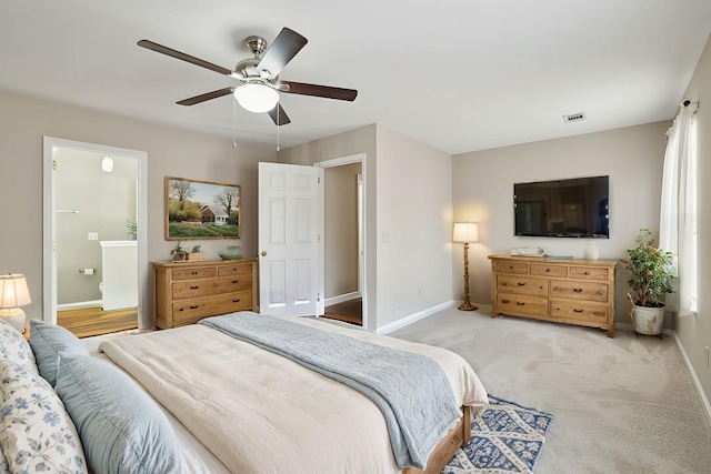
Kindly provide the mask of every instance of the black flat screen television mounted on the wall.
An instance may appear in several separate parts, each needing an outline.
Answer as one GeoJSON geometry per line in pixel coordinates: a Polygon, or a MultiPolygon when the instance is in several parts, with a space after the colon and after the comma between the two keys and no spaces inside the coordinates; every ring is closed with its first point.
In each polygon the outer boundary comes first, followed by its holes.
{"type": "Polygon", "coordinates": [[[610,177],[513,184],[514,233],[610,239],[610,177]]]}

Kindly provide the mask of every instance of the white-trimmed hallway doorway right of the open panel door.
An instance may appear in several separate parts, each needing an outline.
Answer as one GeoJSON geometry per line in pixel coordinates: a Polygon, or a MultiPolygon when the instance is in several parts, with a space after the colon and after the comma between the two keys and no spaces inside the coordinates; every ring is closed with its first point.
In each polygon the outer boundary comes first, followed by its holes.
{"type": "Polygon", "coordinates": [[[324,168],[324,317],[367,327],[364,313],[364,154],[324,168]]]}

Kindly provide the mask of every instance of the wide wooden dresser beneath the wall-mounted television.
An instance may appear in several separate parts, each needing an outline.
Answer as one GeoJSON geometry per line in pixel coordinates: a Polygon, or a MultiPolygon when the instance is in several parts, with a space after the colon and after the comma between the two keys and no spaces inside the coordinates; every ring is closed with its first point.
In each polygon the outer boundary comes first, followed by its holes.
{"type": "Polygon", "coordinates": [[[614,337],[617,260],[489,255],[491,315],[601,327],[614,337]]]}

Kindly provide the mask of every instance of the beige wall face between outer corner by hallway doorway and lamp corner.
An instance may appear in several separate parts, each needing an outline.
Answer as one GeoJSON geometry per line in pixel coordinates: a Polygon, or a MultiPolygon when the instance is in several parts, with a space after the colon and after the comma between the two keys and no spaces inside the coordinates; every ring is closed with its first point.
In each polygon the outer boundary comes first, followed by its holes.
{"type": "Polygon", "coordinates": [[[452,157],[378,127],[378,326],[451,301],[452,157]]]}

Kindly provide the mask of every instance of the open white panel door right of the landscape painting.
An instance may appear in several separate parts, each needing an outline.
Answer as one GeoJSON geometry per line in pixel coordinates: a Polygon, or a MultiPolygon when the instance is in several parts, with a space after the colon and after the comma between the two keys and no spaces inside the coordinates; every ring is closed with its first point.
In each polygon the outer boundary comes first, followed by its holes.
{"type": "Polygon", "coordinates": [[[322,313],[319,202],[323,170],[259,163],[259,311],[322,313]]]}

